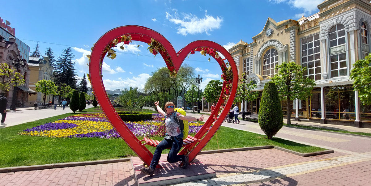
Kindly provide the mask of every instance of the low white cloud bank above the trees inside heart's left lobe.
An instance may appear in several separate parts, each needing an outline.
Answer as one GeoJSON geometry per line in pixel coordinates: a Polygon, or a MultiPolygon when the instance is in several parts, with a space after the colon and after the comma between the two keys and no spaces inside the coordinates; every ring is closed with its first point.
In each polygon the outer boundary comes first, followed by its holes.
{"type": "Polygon", "coordinates": [[[136,86],[142,89],[144,88],[144,84],[149,77],[151,77],[150,74],[142,73],[136,77],[135,76],[132,77],[131,79],[130,78],[126,79],[119,78],[118,80],[104,79],[103,83],[106,90],[123,89],[136,86]]]}

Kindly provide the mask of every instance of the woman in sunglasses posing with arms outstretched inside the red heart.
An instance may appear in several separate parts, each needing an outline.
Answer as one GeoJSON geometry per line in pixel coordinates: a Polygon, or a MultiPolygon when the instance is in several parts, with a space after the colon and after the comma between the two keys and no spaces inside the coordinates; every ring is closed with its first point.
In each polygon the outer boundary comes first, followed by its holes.
{"type": "Polygon", "coordinates": [[[162,111],[161,107],[158,106],[158,101],[155,102],[155,106],[157,107],[158,112],[165,116],[164,123],[166,129],[166,136],[164,140],[162,140],[156,147],[155,153],[153,154],[153,158],[151,161],[151,165],[148,167],[142,167],[140,171],[146,175],[152,176],[155,172],[155,168],[158,165],[158,161],[160,160],[162,150],[170,148],[170,152],[167,156],[167,161],[169,163],[175,163],[182,161],[183,166],[182,168],[185,169],[188,166],[188,156],[187,155],[177,155],[179,150],[183,146],[183,131],[180,129],[179,120],[187,120],[187,121],[203,121],[204,115],[200,118],[192,117],[192,116],[183,116],[182,114],[176,112],[175,105],[173,102],[165,103],[165,111],[162,111]]]}

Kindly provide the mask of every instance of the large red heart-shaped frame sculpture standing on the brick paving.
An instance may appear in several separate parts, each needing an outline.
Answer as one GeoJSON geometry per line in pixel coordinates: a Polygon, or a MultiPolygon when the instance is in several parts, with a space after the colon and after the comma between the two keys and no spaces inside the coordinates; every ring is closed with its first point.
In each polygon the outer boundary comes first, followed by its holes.
{"type": "MultiPolygon", "coordinates": [[[[99,40],[96,42],[95,46],[93,47],[93,50],[91,53],[90,65],[89,65],[90,80],[92,83],[94,94],[96,96],[96,99],[98,100],[100,107],[102,108],[103,112],[106,114],[109,122],[111,122],[113,127],[117,130],[117,132],[120,134],[122,139],[125,140],[128,146],[147,165],[150,165],[151,163],[151,160],[153,157],[152,153],[144,145],[142,145],[142,143],[138,140],[138,138],[135,137],[135,135],[129,130],[129,128],[124,124],[124,122],[121,120],[119,115],[115,112],[114,107],[112,106],[111,102],[108,99],[108,96],[107,96],[107,93],[105,91],[104,84],[102,81],[102,76],[101,76],[101,73],[102,73],[101,64],[103,62],[105,54],[108,52],[107,47],[109,46],[109,44],[112,44],[112,41],[124,35],[125,36],[130,35],[131,40],[143,41],[145,43],[151,43],[151,39],[158,41],[164,47],[168,56],[170,56],[170,60],[173,62],[173,67],[175,67],[176,72],[178,72],[181,64],[183,63],[183,60],[188,56],[188,54],[195,50],[200,51],[201,47],[207,47],[207,48],[211,48],[211,49],[215,49],[219,51],[221,54],[223,54],[226,57],[228,62],[230,62],[230,67],[233,72],[233,80],[236,80],[236,81],[232,82],[232,88],[230,89],[230,96],[225,105],[227,109],[223,109],[220,116],[216,119],[215,123],[213,123],[214,118],[217,117],[217,114],[219,111],[219,109],[214,109],[209,119],[205,122],[205,124],[200,129],[200,131],[198,131],[197,134],[194,136],[197,139],[200,139],[203,136],[204,137],[200,140],[200,142],[196,146],[194,146],[194,148],[186,147],[179,153],[179,154],[184,154],[185,150],[190,150],[190,153],[188,154],[188,156],[190,158],[189,162],[191,162],[191,160],[193,160],[198,155],[198,153],[201,152],[201,150],[210,141],[211,137],[213,137],[216,131],[219,129],[220,125],[223,123],[224,118],[227,116],[229,112],[229,108],[232,106],[234,97],[236,96],[236,91],[237,91],[237,86],[238,86],[238,71],[237,71],[236,64],[233,61],[232,56],[229,54],[229,52],[226,49],[224,49],[224,47],[220,46],[217,43],[214,43],[213,41],[207,41],[207,40],[193,41],[192,43],[188,44],[183,49],[181,49],[178,53],[175,53],[173,46],[164,36],[162,36],[160,33],[154,30],[151,30],[151,29],[148,29],[142,26],[131,25],[131,26],[117,27],[115,29],[108,31],[101,38],[99,38],[99,40]],[[211,125],[213,126],[211,127],[211,125]]],[[[217,60],[217,62],[219,63],[222,69],[226,68],[226,65],[224,64],[223,60],[220,59],[220,57],[214,57],[214,59],[217,60]]],[[[164,60],[168,60],[168,59],[164,59],[164,60]]],[[[169,64],[168,64],[168,68],[169,68],[169,64]]],[[[223,90],[225,90],[226,87],[229,88],[230,83],[231,82],[224,81],[222,94],[219,97],[216,108],[219,108],[221,104],[224,104],[224,100],[222,98],[222,96],[224,96],[223,90]]]]}

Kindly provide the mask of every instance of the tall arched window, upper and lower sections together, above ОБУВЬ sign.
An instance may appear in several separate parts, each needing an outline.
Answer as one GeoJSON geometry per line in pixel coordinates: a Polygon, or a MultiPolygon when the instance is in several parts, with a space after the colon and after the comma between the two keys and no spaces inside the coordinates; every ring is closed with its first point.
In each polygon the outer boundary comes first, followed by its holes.
{"type": "MultiPolygon", "coordinates": [[[[329,31],[330,48],[345,44],[345,27],[342,24],[336,24],[329,31]]],[[[347,54],[336,53],[330,56],[331,77],[347,76],[347,54]]]]}

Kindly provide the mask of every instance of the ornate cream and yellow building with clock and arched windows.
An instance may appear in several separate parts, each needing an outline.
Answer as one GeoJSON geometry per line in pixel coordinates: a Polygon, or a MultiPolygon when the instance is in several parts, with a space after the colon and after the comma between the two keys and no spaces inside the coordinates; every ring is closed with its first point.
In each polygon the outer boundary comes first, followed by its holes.
{"type": "MultiPolygon", "coordinates": [[[[268,18],[252,43],[241,40],[229,52],[260,96],[276,65],[294,61],[307,67],[304,76],[316,86],[308,99],[291,103],[296,120],[371,127],[371,108],[360,103],[349,79],[353,64],[370,53],[370,1],[326,0],[317,7],[318,13],[299,20],[268,18]]],[[[243,109],[258,113],[260,96],[243,109]]],[[[287,116],[285,101],[282,111],[287,116]]]]}

